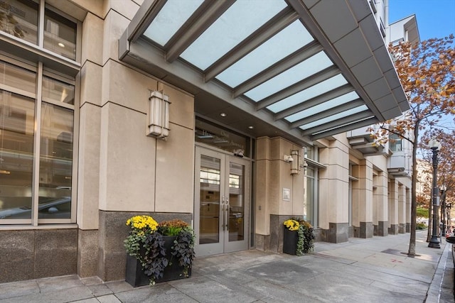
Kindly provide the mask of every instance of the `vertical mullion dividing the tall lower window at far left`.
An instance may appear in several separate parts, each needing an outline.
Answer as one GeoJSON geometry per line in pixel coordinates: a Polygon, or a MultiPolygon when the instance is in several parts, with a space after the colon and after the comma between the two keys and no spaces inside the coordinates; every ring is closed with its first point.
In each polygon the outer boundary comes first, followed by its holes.
{"type": "Polygon", "coordinates": [[[40,187],[40,150],[41,150],[41,96],[43,83],[43,62],[38,62],[38,70],[36,77],[36,102],[35,102],[35,131],[33,143],[33,177],[32,177],[32,209],[31,209],[31,224],[38,226],[38,203],[39,203],[39,187],[40,187]]]}

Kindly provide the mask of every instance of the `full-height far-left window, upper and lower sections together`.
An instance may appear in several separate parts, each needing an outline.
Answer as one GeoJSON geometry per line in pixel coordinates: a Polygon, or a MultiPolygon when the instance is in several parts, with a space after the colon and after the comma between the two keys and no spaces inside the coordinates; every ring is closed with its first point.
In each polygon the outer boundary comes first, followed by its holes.
{"type": "Polygon", "coordinates": [[[46,0],[0,0],[0,224],[75,222],[81,24],[46,0]]]}

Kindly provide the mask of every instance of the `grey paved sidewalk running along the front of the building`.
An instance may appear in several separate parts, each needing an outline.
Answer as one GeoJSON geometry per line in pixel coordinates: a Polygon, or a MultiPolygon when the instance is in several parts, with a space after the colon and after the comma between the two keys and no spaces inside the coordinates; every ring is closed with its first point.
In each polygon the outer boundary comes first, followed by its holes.
{"type": "Polygon", "coordinates": [[[197,258],[189,279],[154,287],[77,275],[0,284],[0,302],[454,302],[452,245],[417,232],[316,243],[300,257],[259,250],[197,258]]]}

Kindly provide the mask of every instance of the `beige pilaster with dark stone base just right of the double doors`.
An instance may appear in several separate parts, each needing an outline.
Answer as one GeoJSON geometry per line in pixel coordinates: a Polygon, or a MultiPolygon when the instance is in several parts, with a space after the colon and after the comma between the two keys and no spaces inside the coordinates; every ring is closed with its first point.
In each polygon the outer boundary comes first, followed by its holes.
{"type": "Polygon", "coordinates": [[[291,162],[284,155],[291,150],[304,153],[281,137],[257,138],[256,150],[256,248],[281,253],[283,221],[304,214],[304,171],[291,175],[291,162]]]}

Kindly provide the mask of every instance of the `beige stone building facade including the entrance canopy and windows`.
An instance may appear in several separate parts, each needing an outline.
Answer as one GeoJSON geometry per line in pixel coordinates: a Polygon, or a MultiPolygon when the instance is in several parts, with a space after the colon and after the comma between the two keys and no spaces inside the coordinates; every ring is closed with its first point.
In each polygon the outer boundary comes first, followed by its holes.
{"type": "Polygon", "coordinates": [[[365,132],[409,109],[370,2],[0,0],[0,282],[124,278],[135,214],[197,256],[281,253],[291,216],[409,231],[365,132]]]}

